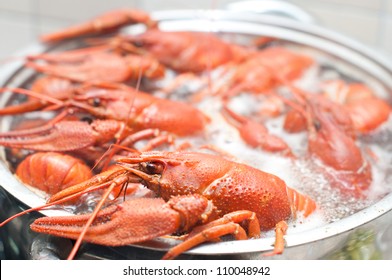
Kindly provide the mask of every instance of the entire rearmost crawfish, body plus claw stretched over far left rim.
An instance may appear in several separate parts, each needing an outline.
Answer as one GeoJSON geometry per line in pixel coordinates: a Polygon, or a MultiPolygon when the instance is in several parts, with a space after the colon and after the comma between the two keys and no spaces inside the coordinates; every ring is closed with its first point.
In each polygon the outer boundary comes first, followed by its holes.
{"type": "Polygon", "coordinates": [[[229,61],[241,61],[249,54],[246,48],[227,43],[211,33],[161,31],[155,28],[157,22],[147,13],[132,9],[108,12],[92,21],[44,35],[41,40],[55,42],[100,34],[132,23],[145,24],[147,31],[136,36],[110,38],[106,45],[148,54],[175,71],[202,72],[229,61]]]}

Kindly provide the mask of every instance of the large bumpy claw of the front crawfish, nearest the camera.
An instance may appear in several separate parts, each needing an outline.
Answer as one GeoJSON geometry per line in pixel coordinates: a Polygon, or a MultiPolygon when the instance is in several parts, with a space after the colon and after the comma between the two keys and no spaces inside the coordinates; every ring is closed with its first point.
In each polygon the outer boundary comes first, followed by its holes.
{"type": "MultiPolygon", "coordinates": [[[[59,237],[77,239],[90,215],[43,217],[31,229],[59,237]]],[[[178,213],[160,198],[136,198],[101,210],[88,228],[84,241],[123,246],[175,232],[178,213]]]]}

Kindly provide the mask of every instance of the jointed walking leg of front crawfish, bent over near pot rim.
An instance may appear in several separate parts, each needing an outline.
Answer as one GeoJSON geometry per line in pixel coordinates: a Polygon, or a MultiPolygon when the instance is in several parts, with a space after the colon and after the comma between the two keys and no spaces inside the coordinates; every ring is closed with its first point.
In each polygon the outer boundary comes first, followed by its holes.
{"type": "Polygon", "coordinates": [[[248,236],[259,236],[260,226],[256,214],[251,211],[236,211],[226,214],[222,218],[208,224],[196,227],[190,232],[187,239],[181,244],[170,249],[163,259],[173,259],[179,254],[207,241],[215,241],[221,236],[233,234],[237,240],[247,239],[248,236]],[[249,226],[247,235],[245,230],[238,224],[248,220],[249,226]]]}

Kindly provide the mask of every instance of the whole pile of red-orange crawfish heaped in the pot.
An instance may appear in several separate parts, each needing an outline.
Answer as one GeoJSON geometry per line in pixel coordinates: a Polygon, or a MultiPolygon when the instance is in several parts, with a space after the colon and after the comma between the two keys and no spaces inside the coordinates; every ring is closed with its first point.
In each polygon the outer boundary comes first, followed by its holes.
{"type": "Polygon", "coordinates": [[[301,88],[296,81],[316,60],[277,40],[245,46],[212,33],[162,31],[137,10],[112,11],[41,40],[83,46],[27,56],[25,67],[36,72],[31,85],[1,89],[24,96],[1,115],[46,113],[18,118],[0,134],[0,145],[18,179],[49,197],[1,226],[98,192],[92,213],[42,217],[31,229],[75,239],[70,259],[83,241],[122,246],[177,235],[182,242],[164,256],[171,259],[225,235],[259,238],[271,229],[275,244],[265,255],[282,254],[288,223],[319,206],[280,174],[214,145],[215,117],[250,149],[291,161],[310,158],[342,195],[367,196],[371,151],[357,138],[387,122],[391,106],[360,82],[333,79],[317,92],[301,88]],[[131,24],[145,31],[120,31],[131,24]],[[235,110],[242,95],[261,100],[260,110],[235,110]],[[200,109],[206,102],[218,104],[217,116],[200,109]],[[285,133],[306,135],[304,154],[270,131],[265,123],[276,117],[284,119],[285,133]]]}

